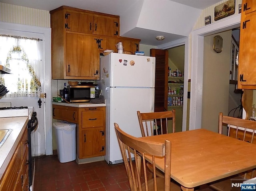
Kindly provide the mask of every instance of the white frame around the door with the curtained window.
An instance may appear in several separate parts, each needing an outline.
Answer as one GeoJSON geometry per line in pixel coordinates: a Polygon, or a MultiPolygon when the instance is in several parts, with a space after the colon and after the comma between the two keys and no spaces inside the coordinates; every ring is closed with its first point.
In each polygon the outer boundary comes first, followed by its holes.
{"type": "Polygon", "coordinates": [[[51,93],[51,28],[29,26],[8,22],[0,22],[0,28],[6,30],[41,33],[44,35],[44,131],[45,131],[45,153],[52,155],[52,93],[51,93]]]}

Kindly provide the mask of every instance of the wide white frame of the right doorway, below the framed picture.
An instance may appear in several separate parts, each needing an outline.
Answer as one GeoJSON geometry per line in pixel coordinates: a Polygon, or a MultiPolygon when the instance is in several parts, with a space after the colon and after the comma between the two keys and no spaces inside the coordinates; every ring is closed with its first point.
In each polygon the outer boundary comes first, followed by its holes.
{"type": "Polygon", "coordinates": [[[237,14],[192,31],[189,130],[200,129],[202,123],[204,37],[240,27],[240,21],[241,14],[237,14]]]}

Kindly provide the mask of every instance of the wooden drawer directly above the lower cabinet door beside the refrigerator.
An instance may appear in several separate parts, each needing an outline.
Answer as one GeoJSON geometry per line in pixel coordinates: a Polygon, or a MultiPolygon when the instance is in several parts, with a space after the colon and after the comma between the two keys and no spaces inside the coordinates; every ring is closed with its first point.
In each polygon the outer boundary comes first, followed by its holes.
{"type": "Polygon", "coordinates": [[[82,128],[102,127],[102,126],[103,126],[103,110],[82,112],[82,128]]]}

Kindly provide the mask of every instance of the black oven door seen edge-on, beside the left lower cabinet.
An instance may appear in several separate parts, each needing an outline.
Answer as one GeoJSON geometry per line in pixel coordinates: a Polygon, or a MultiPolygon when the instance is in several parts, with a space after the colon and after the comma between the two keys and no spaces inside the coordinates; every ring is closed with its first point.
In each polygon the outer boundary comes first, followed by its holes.
{"type": "Polygon", "coordinates": [[[35,134],[33,131],[38,127],[38,119],[36,112],[33,112],[31,119],[28,121],[28,180],[30,191],[33,191],[34,185],[34,170],[35,170],[35,158],[32,157],[35,154],[35,134]]]}

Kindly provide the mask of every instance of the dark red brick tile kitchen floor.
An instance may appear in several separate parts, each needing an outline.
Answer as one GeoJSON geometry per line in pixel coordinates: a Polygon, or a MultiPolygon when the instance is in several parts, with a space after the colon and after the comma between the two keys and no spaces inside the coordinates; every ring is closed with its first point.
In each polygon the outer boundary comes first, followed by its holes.
{"type": "MultiPolygon", "coordinates": [[[[60,163],[57,155],[36,158],[34,191],[130,191],[124,163],[60,163]]],[[[203,187],[200,191],[211,191],[203,187]]]]}

